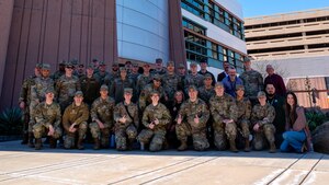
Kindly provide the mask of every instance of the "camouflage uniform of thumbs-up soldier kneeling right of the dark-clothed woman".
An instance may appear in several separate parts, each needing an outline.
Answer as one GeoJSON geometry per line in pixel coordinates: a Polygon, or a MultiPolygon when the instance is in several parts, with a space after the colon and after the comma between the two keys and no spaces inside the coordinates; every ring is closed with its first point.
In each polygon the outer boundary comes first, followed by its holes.
{"type": "MultiPolygon", "coordinates": [[[[202,151],[209,147],[206,138],[206,123],[209,118],[207,105],[201,99],[195,102],[188,100],[181,105],[179,115],[182,116],[182,123],[175,125],[175,134],[178,140],[182,143],[188,142],[188,136],[193,138],[193,147],[195,150],[202,151]],[[195,116],[198,116],[200,123],[194,123],[195,116]]],[[[177,118],[178,119],[178,118],[177,118]]]]}

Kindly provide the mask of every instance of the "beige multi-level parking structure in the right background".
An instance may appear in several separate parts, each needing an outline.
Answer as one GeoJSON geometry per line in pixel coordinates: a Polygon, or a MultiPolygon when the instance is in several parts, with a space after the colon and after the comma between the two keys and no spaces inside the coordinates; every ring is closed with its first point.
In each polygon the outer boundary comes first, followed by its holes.
{"type": "Polygon", "coordinates": [[[245,21],[248,54],[257,66],[274,63],[286,86],[298,92],[302,105],[329,108],[329,8],[245,21]],[[319,91],[315,94],[316,103],[303,92],[309,89],[319,91]]]}

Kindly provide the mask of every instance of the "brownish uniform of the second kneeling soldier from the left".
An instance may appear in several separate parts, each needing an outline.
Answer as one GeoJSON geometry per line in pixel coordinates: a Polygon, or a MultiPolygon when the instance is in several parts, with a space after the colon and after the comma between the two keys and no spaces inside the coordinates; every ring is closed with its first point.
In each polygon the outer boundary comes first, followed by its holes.
{"type": "Polygon", "coordinates": [[[71,149],[75,147],[75,138],[77,135],[78,143],[82,142],[88,128],[88,105],[83,102],[80,106],[77,106],[75,103],[72,103],[65,109],[63,115],[63,127],[66,132],[66,138],[64,141],[64,147],[66,149],[71,149]],[[76,132],[70,132],[69,128],[73,123],[76,123],[78,128],[76,132]]]}

